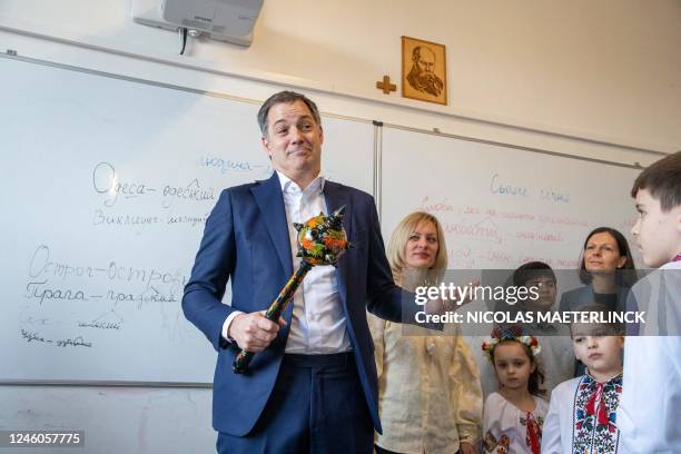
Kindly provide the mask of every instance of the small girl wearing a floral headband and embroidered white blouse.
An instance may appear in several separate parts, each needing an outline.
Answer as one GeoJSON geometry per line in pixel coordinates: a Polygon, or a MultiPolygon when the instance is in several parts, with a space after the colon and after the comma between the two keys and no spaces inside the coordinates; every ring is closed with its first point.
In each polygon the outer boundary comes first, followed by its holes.
{"type": "Polygon", "coordinates": [[[482,348],[499,379],[499,393],[485,401],[483,452],[540,454],[549,403],[540,387],[544,375],[537,362],[539,342],[520,327],[497,327],[482,348]]]}

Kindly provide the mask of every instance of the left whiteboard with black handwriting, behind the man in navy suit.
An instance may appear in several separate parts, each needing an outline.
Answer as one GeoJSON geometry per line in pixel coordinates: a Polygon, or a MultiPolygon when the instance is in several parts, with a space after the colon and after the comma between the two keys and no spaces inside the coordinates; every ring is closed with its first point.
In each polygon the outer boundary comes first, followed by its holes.
{"type": "MultiPolygon", "coordinates": [[[[182,286],[220,190],[272,172],[258,106],[12,58],[0,75],[0,379],[210,383],[182,286]]],[[[372,193],[373,125],[323,125],[326,175],[372,193]]]]}

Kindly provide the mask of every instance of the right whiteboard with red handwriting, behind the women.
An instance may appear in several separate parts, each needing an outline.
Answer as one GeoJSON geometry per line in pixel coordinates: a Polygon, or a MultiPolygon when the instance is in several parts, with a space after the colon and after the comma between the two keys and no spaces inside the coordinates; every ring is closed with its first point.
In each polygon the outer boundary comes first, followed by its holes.
{"type": "Polygon", "coordinates": [[[383,129],[381,168],[384,237],[407,214],[432,213],[453,269],[532,260],[576,269],[586,235],[601,226],[632,245],[629,190],[639,169],[391,127],[383,129]]]}

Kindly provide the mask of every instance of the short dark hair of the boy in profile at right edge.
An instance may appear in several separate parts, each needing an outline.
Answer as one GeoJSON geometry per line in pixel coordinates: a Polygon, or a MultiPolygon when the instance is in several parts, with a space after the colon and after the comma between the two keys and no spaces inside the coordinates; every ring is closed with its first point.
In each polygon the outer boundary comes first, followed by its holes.
{"type": "Polygon", "coordinates": [[[681,151],[669,155],[643,170],[631,188],[631,197],[641,189],[660,200],[662,211],[681,205],[681,151]]]}

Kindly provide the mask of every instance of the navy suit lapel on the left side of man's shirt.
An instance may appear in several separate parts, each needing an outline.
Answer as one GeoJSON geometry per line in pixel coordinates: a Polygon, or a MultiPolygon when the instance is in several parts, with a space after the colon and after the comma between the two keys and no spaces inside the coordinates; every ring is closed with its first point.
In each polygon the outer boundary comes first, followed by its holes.
{"type": "MultiPolygon", "coordinates": [[[[290,240],[286,224],[284,196],[282,195],[282,185],[279,184],[277,172],[273,172],[269,179],[260,181],[258,186],[254,186],[250,191],[260,209],[265,227],[275,245],[284,272],[287,276],[290,276],[293,274],[290,240]]],[[[258,226],[253,227],[257,228],[258,226]]]]}

